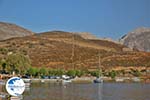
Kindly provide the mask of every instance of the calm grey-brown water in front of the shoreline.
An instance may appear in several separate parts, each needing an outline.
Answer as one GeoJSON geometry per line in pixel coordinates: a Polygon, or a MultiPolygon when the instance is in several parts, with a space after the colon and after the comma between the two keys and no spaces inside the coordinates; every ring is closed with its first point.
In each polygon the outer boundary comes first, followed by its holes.
{"type": "Polygon", "coordinates": [[[150,100],[150,84],[49,84],[27,88],[23,100],[150,100]]]}

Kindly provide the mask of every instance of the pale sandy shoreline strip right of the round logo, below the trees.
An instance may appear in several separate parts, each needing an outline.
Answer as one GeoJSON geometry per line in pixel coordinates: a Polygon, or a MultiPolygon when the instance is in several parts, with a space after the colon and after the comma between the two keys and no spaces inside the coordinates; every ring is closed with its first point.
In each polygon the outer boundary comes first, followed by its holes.
{"type": "MultiPolygon", "coordinates": [[[[80,77],[71,79],[71,83],[93,83],[93,80],[96,77],[80,77]]],[[[63,79],[40,79],[40,78],[31,78],[31,79],[23,79],[25,82],[30,80],[31,83],[62,83],[63,79]]],[[[139,77],[116,77],[115,79],[111,79],[108,77],[102,77],[104,82],[114,82],[114,83],[150,83],[150,79],[142,79],[139,77]]]]}

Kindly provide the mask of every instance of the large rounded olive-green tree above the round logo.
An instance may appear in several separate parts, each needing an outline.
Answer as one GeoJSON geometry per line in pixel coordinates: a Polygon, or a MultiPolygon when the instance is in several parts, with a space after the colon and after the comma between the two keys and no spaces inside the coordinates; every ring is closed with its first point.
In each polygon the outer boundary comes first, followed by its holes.
{"type": "Polygon", "coordinates": [[[6,57],[6,69],[9,73],[25,74],[27,68],[31,66],[28,56],[21,53],[10,54],[6,57]]]}

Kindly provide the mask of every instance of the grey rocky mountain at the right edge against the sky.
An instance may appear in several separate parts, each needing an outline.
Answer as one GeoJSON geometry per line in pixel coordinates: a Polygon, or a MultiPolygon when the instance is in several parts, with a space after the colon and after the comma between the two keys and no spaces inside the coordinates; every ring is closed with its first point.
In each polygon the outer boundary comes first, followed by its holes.
{"type": "Polygon", "coordinates": [[[129,48],[150,52],[150,28],[138,28],[123,36],[121,42],[129,48]]]}

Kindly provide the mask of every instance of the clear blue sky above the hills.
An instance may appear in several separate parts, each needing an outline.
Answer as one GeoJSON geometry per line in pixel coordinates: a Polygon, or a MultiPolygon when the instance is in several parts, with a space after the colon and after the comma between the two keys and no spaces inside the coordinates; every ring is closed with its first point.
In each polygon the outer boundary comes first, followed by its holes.
{"type": "Polygon", "coordinates": [[[119,39],[150,27],[150,0],[0,0],[0,21],[33,32],[90,32],[119,39]]]}

